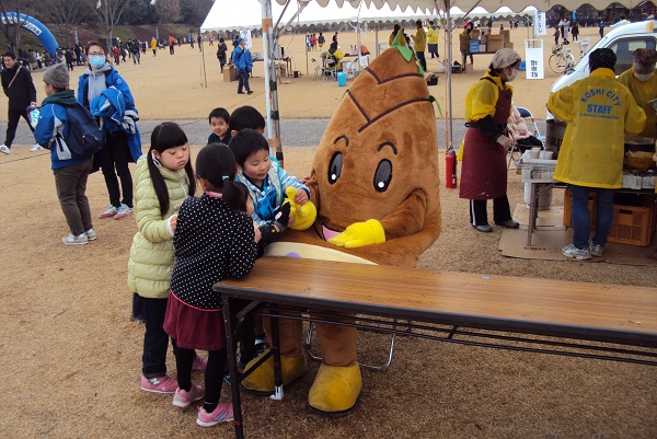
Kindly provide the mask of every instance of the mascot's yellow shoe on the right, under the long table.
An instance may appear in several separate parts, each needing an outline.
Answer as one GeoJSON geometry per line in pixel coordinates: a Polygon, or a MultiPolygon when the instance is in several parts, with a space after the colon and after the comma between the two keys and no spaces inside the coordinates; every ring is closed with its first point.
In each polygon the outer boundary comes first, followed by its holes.
{"type": "Polygon", "coordinates": [[[322,415],[344,416],[349,414],[360,395],[362,379],[358,363],[350,367],[322,363],[308,394],[308,404],[322,415]]]}

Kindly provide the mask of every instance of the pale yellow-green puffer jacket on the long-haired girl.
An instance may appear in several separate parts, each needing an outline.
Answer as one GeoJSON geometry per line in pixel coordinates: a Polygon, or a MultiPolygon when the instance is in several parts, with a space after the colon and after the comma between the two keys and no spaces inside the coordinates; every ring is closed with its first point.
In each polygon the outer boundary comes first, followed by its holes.
{"type": "Polygon", "coordinates": [[[130,247],[128,287],[143,298],[166,299],[174,255],[169,217],[187,197],[189,182],[184,170],[175,172],[160,166],[170,197],[169,210],[162,216],[147,160],[148,155],[142,155],[135,171],[135,218],[139,231],[130,247]]]}

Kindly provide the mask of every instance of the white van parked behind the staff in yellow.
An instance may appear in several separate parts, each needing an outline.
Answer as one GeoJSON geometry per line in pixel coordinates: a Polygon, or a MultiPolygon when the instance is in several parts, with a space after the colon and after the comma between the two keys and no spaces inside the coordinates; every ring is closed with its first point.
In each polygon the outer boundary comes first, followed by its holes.
{"type": "Polygon", "coordinates": [[[575,67],[565,71],[550,89],[550,93],[570,85],[575,81],[579,81],[589,76],[588,57],[591,51],[601,47],[610,48],[616,55],[615,73],[616,77],[632,67],[634,50],[638,48],[657,47],[657,27],[655,21],[643,21],[621,25],[611,30],[598,43],[596,43],[589,51],[584,54],[579,62],[575,67]]]}

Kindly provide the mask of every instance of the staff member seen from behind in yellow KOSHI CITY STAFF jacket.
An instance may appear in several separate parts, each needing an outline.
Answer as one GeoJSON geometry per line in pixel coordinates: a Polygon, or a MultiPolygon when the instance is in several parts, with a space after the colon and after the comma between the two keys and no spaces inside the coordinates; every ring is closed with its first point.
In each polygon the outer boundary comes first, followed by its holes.
{"type": "Polygon", "coordinates": [[[554,180],[573,195],[573,243],[566,257],[602,256],[613,219],[614,189],[623,181],[624,135],[635,136],[646,122],[630,90],[615,79],[616,57],[608,48],[589,56],[591,74],[550,95],[548,107],[568,123],[554,180]],[[596,233],[589,245],[589,192],[596,193],[596,233]]]}

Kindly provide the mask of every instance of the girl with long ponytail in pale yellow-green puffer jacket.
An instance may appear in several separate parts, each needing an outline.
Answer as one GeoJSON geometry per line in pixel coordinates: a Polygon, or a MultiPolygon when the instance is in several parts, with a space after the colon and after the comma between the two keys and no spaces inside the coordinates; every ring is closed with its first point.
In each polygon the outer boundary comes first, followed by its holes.
{"type": "MultiPolygon", "coordinates": [[[[135,171],[139,230],[128,261],[128,286],[135,292],[132,319],[146,324],[140,381],[145,392],[174,393],[178,385],[166,376],[169,335],[163,324],[173,273],[176,210],[195,192],[187,136],[172,122],[158,125],[148,153],[137,161],[135,171]]],[[[204,359],[195,356],[194,362],[195,370],[205,370],[204,359]]]]}

